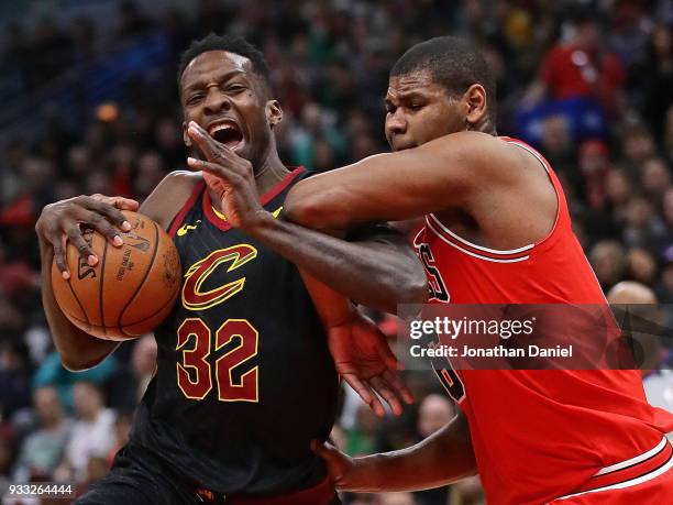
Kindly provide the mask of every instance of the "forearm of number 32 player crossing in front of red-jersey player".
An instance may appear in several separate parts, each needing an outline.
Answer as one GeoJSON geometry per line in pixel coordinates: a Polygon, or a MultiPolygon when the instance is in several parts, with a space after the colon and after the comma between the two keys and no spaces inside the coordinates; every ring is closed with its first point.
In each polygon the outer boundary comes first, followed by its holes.
{"type": "Polygon", "coordinates": [[[420,304],[426,299],[422,267],[413,251],[401,242],[347,242],[277,219],[267,219],[247,231],[358,304],[395,312],[398,304],[420,304]]]}

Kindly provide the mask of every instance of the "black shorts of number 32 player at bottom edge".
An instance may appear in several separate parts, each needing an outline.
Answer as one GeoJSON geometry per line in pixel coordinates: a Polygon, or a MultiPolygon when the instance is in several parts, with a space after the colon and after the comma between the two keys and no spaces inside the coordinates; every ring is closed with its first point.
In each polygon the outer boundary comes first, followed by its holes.
{"type": "MultiPolygon", "coordinates": [[[[156,457],[124,447],[110,473],[89,487],[74,505],[229,505],[235,499],[199,494],[156,457]]],[[[330,505],[339,505],[338,497],[330,505]]]]}

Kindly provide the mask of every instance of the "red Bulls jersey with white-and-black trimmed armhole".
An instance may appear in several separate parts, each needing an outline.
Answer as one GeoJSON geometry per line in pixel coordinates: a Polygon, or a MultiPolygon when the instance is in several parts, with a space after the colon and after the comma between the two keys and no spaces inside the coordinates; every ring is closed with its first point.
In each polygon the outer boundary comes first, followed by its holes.
{"type": "MultiPolygon", "coordinates": [[[[496,251],[427,216],[415,246],[431,303],[606,304],[571,230],[553,171],[527,144],[501,140],[530,152],[547,169],[559,202],[553,229],[537,243],[496,251]]],[[[435,371],[468,420],[489,504],[539,505],[569,495],[592,479],[628,466],[625,461],[663,447],[664,433],[673,431],[673,415],[647,403],[638,371],[454,372],[446,363],[455,381],[446,381],[446,370],[443,375],[435,371]]]]}

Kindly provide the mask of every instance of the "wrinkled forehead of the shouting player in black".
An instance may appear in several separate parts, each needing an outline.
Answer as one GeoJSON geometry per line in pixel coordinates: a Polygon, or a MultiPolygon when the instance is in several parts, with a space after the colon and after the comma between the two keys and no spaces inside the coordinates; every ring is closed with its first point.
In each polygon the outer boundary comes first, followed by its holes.
{"type": "Polygon", "coordinates": [[[180,83],[183,90],[187,90],[235,75],[252,77],[254,75],[252,62],[245,56],[228,51],[207,51],[189,62],[183,72],[180,83]]]}

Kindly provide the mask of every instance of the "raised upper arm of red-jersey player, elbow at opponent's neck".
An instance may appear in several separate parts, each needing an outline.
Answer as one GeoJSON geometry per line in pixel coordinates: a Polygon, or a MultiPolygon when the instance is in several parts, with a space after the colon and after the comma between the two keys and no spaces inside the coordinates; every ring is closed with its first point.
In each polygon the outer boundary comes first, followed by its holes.
{"type": "Polygon", "coordinates": [[[486,182],[493,191],[517,180],[520,173],[508,169],[521,164],[516,151],[486,133],[453,133],[301,180],[288,194],[284,213],[316,230],[342,230],[470,209],[486,182]]]}

